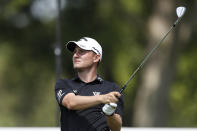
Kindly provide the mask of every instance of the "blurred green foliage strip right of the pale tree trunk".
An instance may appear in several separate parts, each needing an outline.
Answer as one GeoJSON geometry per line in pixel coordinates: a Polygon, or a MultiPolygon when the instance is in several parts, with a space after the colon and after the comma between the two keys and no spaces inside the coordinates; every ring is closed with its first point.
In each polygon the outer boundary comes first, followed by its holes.
{"type": "Polygon", "coordinates": [[[197,19],[192,17],[197,13],[196,1],[185,1],[188,11],[186,20],[181,24],[178,33],[178,43],[182,45],[177,59],[177,74],[170,90],[170,126],[196,127],[196,40],[197,19]]]}

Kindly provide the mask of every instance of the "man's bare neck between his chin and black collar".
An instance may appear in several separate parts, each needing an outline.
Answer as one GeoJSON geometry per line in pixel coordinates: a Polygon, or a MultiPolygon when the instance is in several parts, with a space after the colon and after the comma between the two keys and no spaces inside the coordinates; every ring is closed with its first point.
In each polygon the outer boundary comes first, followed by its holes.
{"type": "Polygon", "coordinates": [[[92,82],[97,77],[96,70],[83,70],[78,71],[78,77],[85,83],[92,82]]]}

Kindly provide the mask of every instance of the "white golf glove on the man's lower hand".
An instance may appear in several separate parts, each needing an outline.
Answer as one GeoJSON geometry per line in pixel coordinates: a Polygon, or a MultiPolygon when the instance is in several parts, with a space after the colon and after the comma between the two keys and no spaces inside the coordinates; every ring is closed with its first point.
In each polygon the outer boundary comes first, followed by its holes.
{"type": "Polygon", "coordinates": [[[102,111],[105,113],[105,115],[112,116],[116,110],[116,107],[116,103],[105,104],[102,108],[102,111]]]}

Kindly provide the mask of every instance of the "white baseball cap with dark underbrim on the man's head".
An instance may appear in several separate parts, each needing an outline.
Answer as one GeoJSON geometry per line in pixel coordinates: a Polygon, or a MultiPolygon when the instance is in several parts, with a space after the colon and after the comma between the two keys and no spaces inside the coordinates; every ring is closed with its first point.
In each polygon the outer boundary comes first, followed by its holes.
{"type": "Polygon", "coordinates": [[[89,37],[83,37],[79,41],[69,41],[66,47],[69,51],[73,52],[75,50],[76,45],[84,50],[91,50],[96,54],[100,55],[100,61],[101,61],[102,47],[95,39],[89,37]]]}

